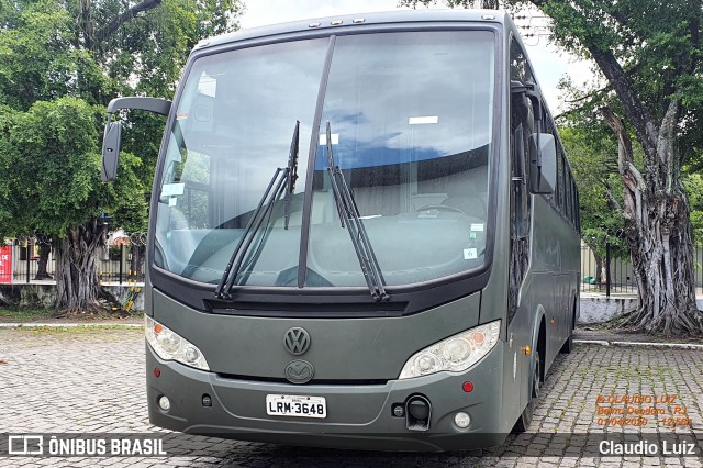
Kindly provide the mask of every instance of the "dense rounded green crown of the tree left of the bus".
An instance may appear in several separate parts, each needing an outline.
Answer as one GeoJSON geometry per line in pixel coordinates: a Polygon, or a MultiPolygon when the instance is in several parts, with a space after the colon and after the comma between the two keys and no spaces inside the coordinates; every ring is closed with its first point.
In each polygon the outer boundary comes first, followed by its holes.
{"type": "Polygon", "coordinates": [[[145,218],[144,188],[134,174],[141,163],[135,156],[124,155],[115,186],[100,182],[101,114],[102,108],[77,98],[35,102],[27,112],[15,114],[9,143],[5,140],[18,182],[11,192],[15,230],[62,238],[70,227],[110,208],[126,211],[118,222],[145,218]]]}

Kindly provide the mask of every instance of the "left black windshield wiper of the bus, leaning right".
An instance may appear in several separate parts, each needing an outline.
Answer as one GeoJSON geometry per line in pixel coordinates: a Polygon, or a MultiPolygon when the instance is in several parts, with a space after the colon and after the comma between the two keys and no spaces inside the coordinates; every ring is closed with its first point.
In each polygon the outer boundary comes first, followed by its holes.
{"type": "Polygon", "coordinates": [[[252,243],[256,238],[256,234],[261,229],[264,220],[266,220],[271,210],[274,210],[274,203],[280,200],[283,193],[286,193],[283,203],[286,210],[286,229],[288,229],[288,222],[290,220],[290,201],[293,190],[295,189],[295,180],[298,180],[298,153],[300,146],[299,133],[300,121],[295,121],[293,138],[290,142],[288,166],[286,168],[279,167],[276,169],[264,196],[261,196],[261,200],[259,200],[259,204],[254,210],[254,213],[252,213],[252,218],[246,224],[244,233],[242,234],[242,237],[239,237],[239,242],[237,242],[236,247],[234,247],[232,258],[230,258],[230,263],[224,269],[220,283],[215,289],[215,297],[217,299],[232,299],[232,288],[239,276],[239,270],[242,269],[242,264],[246,258],[246,254],[252,247],[252,243]]]}

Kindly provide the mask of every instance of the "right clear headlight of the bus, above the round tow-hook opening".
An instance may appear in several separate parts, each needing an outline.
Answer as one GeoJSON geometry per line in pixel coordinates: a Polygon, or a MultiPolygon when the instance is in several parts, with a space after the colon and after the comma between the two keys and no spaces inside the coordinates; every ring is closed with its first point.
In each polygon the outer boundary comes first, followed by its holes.
{"type": "Polygon", "coordinates": [[[495,347],[500,333],[501,321],[496,320],[435,343],[412,355],[403,366],[399,379],[427,376],[442,370],[464,371],[495,347]]]}

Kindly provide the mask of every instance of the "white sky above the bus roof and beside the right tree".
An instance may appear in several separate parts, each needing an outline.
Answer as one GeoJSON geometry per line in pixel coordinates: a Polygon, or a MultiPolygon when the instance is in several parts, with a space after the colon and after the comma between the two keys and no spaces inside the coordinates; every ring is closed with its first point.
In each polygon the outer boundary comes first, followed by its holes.
{"type": "MultiPolygon", "coordinates": [[[[242,27],[398,9],[398,0],[244,0],[244,2],[246,11],[239,21],[242,27]]],[[[535,14],[528,14],[528,16],[531,18],[517,21],[517,24],[537,26],[532,31],[539,33],[539,25],[544,24],[545,20],[535,14]]],[[[565,110],[557,89],[559,79],[568,75],[576,83],[589,80],[592,76],[590,64],[558,51],[548,44],[544,36],[524,37],[524,42],[542,91],[553,114],[556,115],[565,110]]]]}

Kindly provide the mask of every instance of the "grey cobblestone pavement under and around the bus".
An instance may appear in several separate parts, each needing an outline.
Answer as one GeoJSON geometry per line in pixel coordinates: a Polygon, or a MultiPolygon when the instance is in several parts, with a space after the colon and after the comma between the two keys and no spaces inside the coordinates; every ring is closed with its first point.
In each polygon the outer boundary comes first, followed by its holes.
{"type": "MultiPolygon", "coordinates": [[[[0,330],[0,434],[159,432],[147,421],[144,341],[138,330],[0,330]]],[[[0,456],[0,466],[703,467],[701,446],[693,457],[599,458],[592,446],[588,448],[589,434],[602,441],[623,431],[671,433],[667,424],[677,423],[670,421],[677,406],[685,408],[691,425],[676,431],[695,431],[701,438],[703,352],[578,345],[572,354],[557,358],[531,431],[510,435],[502,447],[490,450],[399,455],[183,436],[193,447],[187,457],[0,456]],[[637,395],[658,401],[636,401],[637,395]],[[627,398],[631,401],[624,401],[627,398]],[[629,408],[665,414],[637,416],[646,420],[643,427],[603,426],[618,409],[627,414],[629,408]],[[604,414],[609,411],[611,415],[604,414]]]]}

